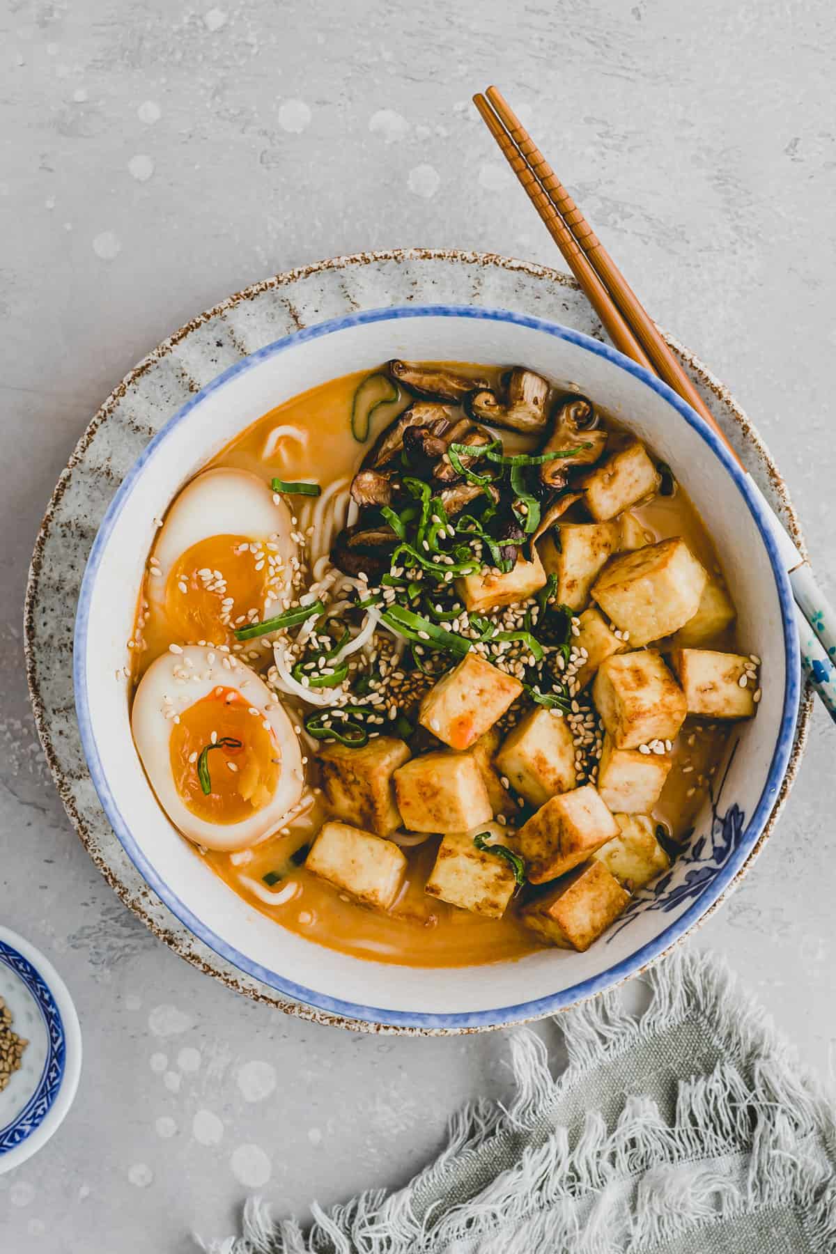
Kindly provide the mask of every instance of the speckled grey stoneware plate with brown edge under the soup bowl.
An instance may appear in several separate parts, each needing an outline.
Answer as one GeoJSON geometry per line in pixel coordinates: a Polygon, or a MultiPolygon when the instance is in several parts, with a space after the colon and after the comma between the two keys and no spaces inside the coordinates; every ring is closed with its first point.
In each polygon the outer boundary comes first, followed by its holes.
{"type": "MultiPolygon", "coordinates": [[[[333,1006],[323,1011],[288,1001],[276,988],[242,973],[204,947],[167,910],[128,860],[90,784],[73,703],[71,631],[65,613],[58,612],[59,606],[65,607],[78,594],[97,528],[125,473],[150,438],[194,393],[243,356],[288,332],[357,310],[410,302],[511,310],[602,339],[584,297],[567,276],[474,253],[366,253],[278,276],[232,297],[183,327],[140,362],[88,428],[59,480],[39,535],[26,604],[26,648],[39,732],[68,813],[122,899],[158,935],[237,991],[285,1011],[355,1030],[426,1033],[439,1028],[380,1027],[340,1017],[332,1013],[333,1006]],[[56,623],[63,626],[56,628],[56,623]]],[[[795,514],[778,472],[751,424],[708,371],[679,346],[673,346],[704,391],[747,469],[798,539],[795,514]]],[[[805,703],[783,788],[739,874],[775,823],[795,775],[807,719],[808,705],[805,703]]],[[[351,1013],[360,1012],[352,1009],[351,1013]]],[[[479,1030],[480,1026],[464,1030],[479,1030]]]]}

